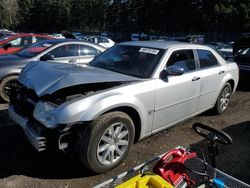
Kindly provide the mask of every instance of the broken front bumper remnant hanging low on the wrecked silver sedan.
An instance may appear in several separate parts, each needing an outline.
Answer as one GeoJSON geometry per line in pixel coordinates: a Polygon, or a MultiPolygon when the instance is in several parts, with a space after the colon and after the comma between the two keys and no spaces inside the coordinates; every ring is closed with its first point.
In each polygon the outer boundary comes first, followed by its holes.
{"type": "Polygon", "coordinates": [[[9,116],[16,122],[20,127],[22,127],[27,139],[38,151],[46,150],[47,140],[44,136],[41,136],[38,131],[36,131],[28,123],[28,118],[22,117],[15,112],[13,106],[9,107],[9,116]]]}

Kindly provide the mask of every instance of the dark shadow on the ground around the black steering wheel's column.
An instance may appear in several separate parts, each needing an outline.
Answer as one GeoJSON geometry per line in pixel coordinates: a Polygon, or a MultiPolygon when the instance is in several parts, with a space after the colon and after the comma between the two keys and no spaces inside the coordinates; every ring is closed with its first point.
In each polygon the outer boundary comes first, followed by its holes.
{"type": "MultiPolygon", "coordinates": [[[[223,131],[232,137],[233,144],[219,145],[219,155],[216,157],[217,168],[250,184],[250,121],[232,125],[223,131]]],[[[202,148],[207,162],[210,163],[207,151],[207,140],[203,139],[191,145],[191,147],[202,148]]]]}

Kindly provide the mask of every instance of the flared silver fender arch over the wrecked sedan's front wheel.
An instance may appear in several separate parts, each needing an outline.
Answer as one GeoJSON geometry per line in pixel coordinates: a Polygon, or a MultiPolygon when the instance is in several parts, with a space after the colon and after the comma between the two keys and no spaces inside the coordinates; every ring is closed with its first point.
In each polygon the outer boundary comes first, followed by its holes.
{"type": "Polygon", "coordinates": [[[55,111],[56,121],[58,124],[92,121],[101,114],[117,107],[131,107],[135,109],[141,117],[142,123],[147,119],[146,107],[138,98],[123,94],[113,94],[102,97],[88,97],[64,104],[55,111]]]}

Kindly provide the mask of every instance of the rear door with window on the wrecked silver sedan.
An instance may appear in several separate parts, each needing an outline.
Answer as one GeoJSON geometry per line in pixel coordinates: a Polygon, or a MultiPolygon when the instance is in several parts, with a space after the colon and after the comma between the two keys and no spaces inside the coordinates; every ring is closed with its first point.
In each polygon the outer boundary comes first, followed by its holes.
{"type": "Polygon", "coordinates": [[[198,111],[210,108],[218,97],[220,83],[225,75],[215,55],[209,50],[197,49],[201,82],[198,111]]]}

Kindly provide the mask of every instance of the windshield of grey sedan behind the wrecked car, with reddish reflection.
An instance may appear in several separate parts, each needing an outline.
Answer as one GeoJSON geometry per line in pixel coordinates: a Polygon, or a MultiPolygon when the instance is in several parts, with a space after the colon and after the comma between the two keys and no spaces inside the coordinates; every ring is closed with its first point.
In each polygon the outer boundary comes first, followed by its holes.
{"type": "Polygon", "coordinates": [[[22,57],[32,58],[54,44],[56,44],[56,42],[45,40],[42,42],[35,43],[27,48],[24,48],[16,54],[22,57]]]}

